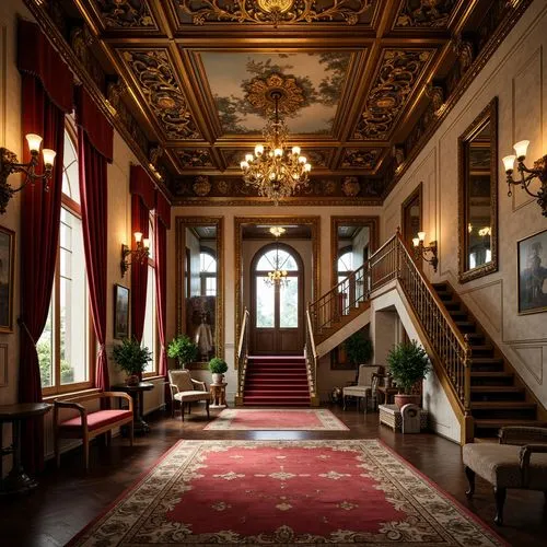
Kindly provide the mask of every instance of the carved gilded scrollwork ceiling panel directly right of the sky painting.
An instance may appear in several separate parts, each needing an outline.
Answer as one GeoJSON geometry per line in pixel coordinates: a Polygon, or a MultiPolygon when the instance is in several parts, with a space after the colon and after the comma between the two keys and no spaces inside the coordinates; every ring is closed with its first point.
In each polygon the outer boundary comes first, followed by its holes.
{"type": "Polygon", "coordinates": [[[432,49],[384,50],[380,70],[354,132],[356,139],[388,139],[395,121],[432,57],[432,49]]]}

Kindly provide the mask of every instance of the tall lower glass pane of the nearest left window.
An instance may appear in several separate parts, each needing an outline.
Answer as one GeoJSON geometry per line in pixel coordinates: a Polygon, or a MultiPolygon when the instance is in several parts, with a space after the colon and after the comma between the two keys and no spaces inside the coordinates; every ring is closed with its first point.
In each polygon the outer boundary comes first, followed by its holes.
{"type": "Polygon", "coordinates": [[[61,385],[89,381],[88,291],[82,222],[61,209],[59,364],[61,385]]]}

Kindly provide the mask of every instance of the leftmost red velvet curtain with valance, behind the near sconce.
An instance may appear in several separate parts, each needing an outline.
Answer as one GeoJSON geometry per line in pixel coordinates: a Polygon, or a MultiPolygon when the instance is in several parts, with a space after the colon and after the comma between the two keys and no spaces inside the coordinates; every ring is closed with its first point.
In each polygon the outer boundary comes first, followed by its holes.
{"type": "MultiPolygon", "coordinates": [[[[49,190],[42,182],[21,191],[21,315],[19,401],[42,400],[36,342],[44,330],[57,261],[62,193],[65,114],[72,109],[72,74],[36,24],[20,21],[18,68],[22,73],[22,135],[38,133],[57,152],[49,190]]],[[[24,139],[23,139],[24,140],[24,139]]],[[[23,143],[23,162],[31,160],[23,143]]],[[[27,419],[21,431],[25,469],[44,467],[44,419],[27,419]]]]}

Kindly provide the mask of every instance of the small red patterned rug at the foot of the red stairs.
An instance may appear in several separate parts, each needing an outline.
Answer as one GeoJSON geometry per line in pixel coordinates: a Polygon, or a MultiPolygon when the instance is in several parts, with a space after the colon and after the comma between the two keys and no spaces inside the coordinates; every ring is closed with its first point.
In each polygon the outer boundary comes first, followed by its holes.
{"type": "MultiPolygon", "coordinates": [[[[274,416],[271,416],[274,418],[274,416]]],[[[337,418],[328,408],[224,408],[222,412],[208,423],[205,430],[214,431],[349,431],[349,428],[337,418]],[[287,415],[288,423],[275,420],[272,423],[260,423],[260,421],[248,421],[245,417],[253,415],[269,414],[287,415]],[[309,416],[307,424],[290,424],[290,415],[309,416]],[[242,420],[238,422],[238,420],[242,420]]]]}

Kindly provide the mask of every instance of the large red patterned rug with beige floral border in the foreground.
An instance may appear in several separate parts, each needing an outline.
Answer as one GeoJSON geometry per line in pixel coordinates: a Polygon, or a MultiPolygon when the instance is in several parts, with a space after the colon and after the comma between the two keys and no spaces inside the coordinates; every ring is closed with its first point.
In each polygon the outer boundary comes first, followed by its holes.
{"type": "Polygon", "coordinates": [[[507,545],[375,440],[179,441],[71,546],[507,545]]]}

